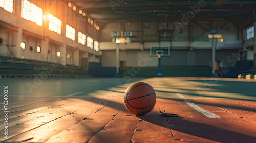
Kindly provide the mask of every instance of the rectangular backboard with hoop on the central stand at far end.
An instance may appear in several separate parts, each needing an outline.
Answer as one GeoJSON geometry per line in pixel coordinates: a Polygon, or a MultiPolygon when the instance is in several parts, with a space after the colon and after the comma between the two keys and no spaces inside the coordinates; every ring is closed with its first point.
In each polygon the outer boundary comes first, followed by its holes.
{"type": "Polygon", "coordinates": [[[150,46],[150,56],[157,57],[157,54],[161,54],[161,57],[170,56],[170,46],[167,45],[152,45],[150,46]]]}

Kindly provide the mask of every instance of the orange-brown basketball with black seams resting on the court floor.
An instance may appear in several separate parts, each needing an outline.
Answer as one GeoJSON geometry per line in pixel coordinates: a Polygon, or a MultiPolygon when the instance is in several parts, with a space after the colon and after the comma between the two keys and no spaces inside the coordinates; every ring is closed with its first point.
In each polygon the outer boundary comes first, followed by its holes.
{"type": "Polygon", "coordinates": [[[152,86],[144,82],[130,85],[124,93],[126,109],[136,115],[149,113],[156,104],[156,93],[152,86]]]}

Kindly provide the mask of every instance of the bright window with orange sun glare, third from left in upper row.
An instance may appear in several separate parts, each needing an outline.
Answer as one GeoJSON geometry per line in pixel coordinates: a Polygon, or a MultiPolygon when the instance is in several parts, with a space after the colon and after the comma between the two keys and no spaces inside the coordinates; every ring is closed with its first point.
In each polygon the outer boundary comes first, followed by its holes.
{"type": "Polygon", "coordinates": [[[48,14],[49,30],[61,34],[61,20],[54,17],[52,14],[48,14]]]}

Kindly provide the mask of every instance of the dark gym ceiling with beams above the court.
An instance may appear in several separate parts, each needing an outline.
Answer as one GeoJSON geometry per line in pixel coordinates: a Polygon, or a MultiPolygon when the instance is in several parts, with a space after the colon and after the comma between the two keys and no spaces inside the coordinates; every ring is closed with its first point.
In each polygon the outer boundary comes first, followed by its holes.
{"type": "Polygon", "coordinates": [[[115,21],[179,21],[195,14],[194,21],[227,20],[236,25],[255,19],[256,1],[244,0],[71,0],[78,10],[99,25],[115,21]],[[200,7],[198,10],[196,7],[200,7]],[[194,7],[194,11],[191,7],[194,7]],[[191,13],[191,11],[196,13],[191,13]]]}

